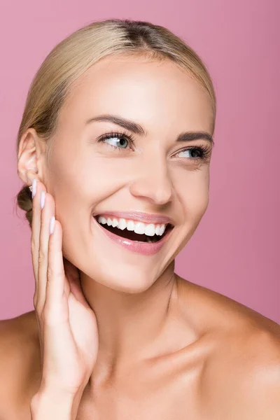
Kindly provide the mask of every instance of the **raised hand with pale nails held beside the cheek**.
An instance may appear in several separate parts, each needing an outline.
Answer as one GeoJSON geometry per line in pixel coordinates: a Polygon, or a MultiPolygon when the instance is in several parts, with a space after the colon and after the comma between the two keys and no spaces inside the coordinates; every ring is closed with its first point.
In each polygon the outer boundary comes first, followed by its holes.
{"type": "Polygon", "coordinates": [[[97,321],[80,288],[78,269],[62,255],[62,225],[58,221],[50,234],[55,202],[45,191],[41,210],[41,191],[45,187],[37,181],[31,253],[43,364],[39,391],[76,395],[85,388],[97,359],[97,321]]]}

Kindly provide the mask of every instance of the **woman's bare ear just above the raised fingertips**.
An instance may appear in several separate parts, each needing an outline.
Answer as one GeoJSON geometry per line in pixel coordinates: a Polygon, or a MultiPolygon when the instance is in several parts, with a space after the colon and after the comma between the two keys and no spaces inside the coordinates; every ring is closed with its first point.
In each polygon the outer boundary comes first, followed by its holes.
{"type": "Polygon", "coordinates": [[[45,142],[38,137],[34,128],[29,128],[22,134],[18,147],[18,176],[29,186],[34,178],[43,178],[45,146],[45,142]]]}

